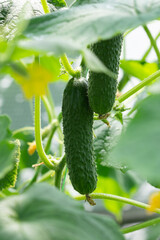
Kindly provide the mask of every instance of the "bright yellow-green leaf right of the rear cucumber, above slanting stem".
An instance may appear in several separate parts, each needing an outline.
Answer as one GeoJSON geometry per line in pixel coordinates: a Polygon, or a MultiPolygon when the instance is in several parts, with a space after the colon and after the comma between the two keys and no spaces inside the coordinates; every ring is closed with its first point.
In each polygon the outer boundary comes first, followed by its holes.
{"type": "Polygon", "coordinates": [[[158,70],[157,63],[142,63],[133,60],[121,60],[120,67],[128,74],[143,80],[158,70]]]}

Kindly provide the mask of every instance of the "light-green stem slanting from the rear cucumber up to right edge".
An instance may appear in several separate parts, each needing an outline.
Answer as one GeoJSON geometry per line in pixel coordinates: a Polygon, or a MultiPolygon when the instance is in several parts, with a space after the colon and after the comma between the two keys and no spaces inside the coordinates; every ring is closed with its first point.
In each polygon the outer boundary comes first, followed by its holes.
{"type": "Polygon", "coordinates": [[[123,101],[125,101],[127,98],[129,98],[130,96],[132,96],[133,94],[135,94],[137,91],[139,91],[141,88],[145,87],[147,84],[149,84],[150,82],[152,82],[153,80],[156,80],[160,78],[160,70],[158,70],[157,72],[153,73],[152,75],[150,75],[149,77],[145,78],[143,81],[141,81],[139,84],[137,84],[135,87],[133,87],[132,89],[130,89],[128,92],[124,93],[123,95],[121,95],[118,98],[118,101],[121,103],[123,101]]]}

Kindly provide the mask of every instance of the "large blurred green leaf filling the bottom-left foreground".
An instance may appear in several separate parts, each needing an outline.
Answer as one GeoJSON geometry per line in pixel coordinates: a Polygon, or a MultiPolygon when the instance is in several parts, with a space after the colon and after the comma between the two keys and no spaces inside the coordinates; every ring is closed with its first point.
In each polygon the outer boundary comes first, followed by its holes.
{"type": "Polygon", "coordinates": [[[90,214],[82,204],[48,184],[0,202],[0,239],[122,240],[117,224],[90,214]]]}

